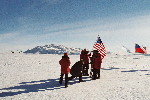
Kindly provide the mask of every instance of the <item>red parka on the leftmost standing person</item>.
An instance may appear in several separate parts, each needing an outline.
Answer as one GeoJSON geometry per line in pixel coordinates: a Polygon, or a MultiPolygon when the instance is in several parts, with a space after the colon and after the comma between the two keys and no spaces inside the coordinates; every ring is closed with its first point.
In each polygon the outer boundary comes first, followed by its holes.
{"type": "Polygon", "coordinates": [[[62,58],[59,61],[59,64],[61,65],[61,73],[68,74],[70,72],[70,60],[69,58],[62,58]]]}

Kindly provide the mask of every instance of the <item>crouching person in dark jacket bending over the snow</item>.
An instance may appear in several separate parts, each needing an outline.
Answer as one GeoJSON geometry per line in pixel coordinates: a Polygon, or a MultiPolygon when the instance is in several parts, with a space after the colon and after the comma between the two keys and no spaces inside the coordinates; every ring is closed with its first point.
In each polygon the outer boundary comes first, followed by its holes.
{"type": "Polygon", "coordinates": [[[79,77],[79,82],[83,82],[82,80],[82,70],[83,70],[83,59],[80,61],[76,62],[70,70],[70,74],[72,75],[69,77],[69,80],[72,80],[75,77],[79,77]]]}

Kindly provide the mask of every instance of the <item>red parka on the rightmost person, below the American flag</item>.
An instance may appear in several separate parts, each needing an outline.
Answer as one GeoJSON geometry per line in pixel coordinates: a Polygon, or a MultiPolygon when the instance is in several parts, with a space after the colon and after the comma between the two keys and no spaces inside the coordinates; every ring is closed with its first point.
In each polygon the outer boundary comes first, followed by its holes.
{"type": "Polygon", "coordinates": [[[99,53],[92,57],[92,61],[93,61],[92,65],[93,68],[101,69],[102,60],[101,55],[99,53]]]}

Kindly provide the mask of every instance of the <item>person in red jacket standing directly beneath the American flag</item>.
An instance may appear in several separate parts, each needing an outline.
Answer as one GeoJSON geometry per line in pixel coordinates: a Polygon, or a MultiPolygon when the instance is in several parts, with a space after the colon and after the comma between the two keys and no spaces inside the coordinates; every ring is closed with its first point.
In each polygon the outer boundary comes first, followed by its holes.
{"type": "Polygon", "coordinates": [[[95,79],[100,79],[100,69],[101,69],[101,54],[98,53],[97,50],[93,51],[93,56],[92,56],[92,67],[93,67],[93,80],[95,79]]]}

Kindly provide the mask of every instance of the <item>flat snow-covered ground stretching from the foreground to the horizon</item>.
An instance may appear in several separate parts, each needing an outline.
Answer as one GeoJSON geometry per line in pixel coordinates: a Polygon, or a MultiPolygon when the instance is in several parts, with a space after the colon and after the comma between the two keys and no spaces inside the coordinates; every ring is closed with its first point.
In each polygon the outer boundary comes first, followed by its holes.
{"type": "MultiPolygon", "coordinates": [[[[72,65],[79,55],[70,55],[72,65]]],[[[0,100],[150,100],[150,55],[108,54],[101,79],[59,85],[61,55],[0,54],[0,100]]],[[[71,65],[71,66],[72,66],[71,65]]]]}

